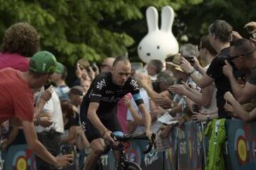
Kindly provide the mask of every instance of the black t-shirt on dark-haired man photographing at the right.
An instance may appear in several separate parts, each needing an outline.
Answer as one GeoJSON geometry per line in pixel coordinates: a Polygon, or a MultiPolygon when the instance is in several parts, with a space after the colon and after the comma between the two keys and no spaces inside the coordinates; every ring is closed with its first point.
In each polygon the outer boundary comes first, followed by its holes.
{"type": "Polygon", "coordinates": [[[223,108],[225,104],[225,92],[230,91],[232,93],[230,81],[228,80],[228,77],[223,74],[223,66],[225,65],[225,60],[227,60],[228,53],[229,48],[224,48],[221,50],[220,54],[218,54],[218,56],[216,56],[210,63],[210,66],[206,72],[209,77],[215,80],[215,86],[217,88],[216,100],[219,118],[230,118],[228,113],[223,108]]]}

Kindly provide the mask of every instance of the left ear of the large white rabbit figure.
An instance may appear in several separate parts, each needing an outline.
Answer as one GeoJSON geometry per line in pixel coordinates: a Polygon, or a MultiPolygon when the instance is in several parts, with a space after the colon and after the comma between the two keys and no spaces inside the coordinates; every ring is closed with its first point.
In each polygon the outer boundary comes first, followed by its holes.
{"type": "Polygon", "coordinates": [[[146,9],[146,23],[148,25],[149,33],[155,30],[159,30],[158,12],[156,11],[156,8],[153,6],[150,6],[146,9]]]}

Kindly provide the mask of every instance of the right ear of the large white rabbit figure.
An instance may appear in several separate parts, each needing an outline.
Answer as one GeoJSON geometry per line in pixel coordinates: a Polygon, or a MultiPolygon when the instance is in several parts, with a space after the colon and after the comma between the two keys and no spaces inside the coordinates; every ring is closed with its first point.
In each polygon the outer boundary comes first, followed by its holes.
{"type": "Polygon", "coordinates": [[[174,10],[171,6],[164,6],[161,11],[161,30],[170,32],[174,23],[174,10]]]}

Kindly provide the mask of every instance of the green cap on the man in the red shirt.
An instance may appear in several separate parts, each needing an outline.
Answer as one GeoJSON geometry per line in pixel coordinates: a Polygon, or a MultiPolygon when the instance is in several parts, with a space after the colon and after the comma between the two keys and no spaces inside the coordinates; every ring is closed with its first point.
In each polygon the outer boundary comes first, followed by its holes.
{"type": "Polygon", "coordinates": [[[36,52],[29,61],[29,69],[41,74],[63,72],[62,67],[63,65],[57,62],[54,55],[48,51],[36,52]]]}

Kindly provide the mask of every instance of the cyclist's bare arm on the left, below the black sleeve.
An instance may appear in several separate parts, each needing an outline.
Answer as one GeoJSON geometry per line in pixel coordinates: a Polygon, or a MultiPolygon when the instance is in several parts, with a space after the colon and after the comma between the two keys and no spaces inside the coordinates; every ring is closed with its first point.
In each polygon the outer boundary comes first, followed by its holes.
{"type": "Polygon", "coordinates": [[[90,102],[89,108],[87,111],[87,118],[90,120],[92,125],[94,125],[95,128],[97,128],[97,130],[99,130],[99,132],[103,135],[103,133],[107,131],[107,128],[105,127],[105,125],[102,124],[102,122],[100,121],[100,118],[97,116],[96,111],[99,108],[99,106],[100,106],[100,103],[90,102]]]}

